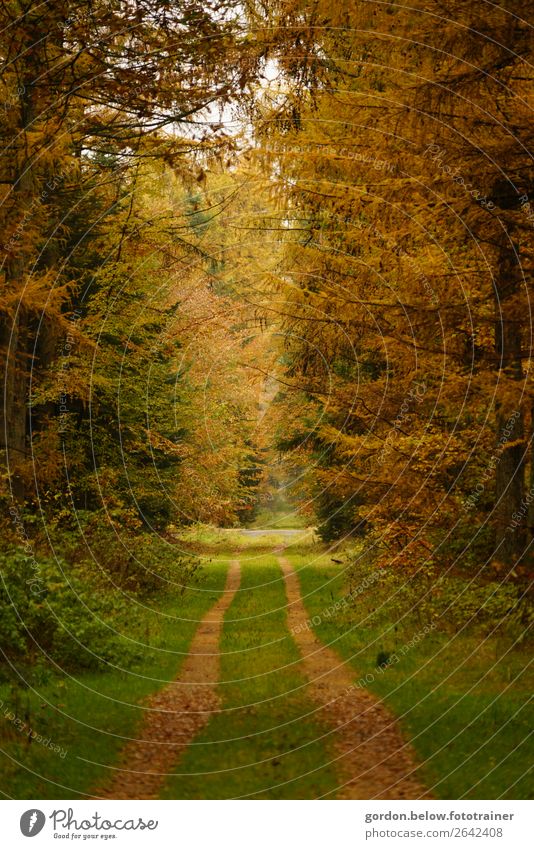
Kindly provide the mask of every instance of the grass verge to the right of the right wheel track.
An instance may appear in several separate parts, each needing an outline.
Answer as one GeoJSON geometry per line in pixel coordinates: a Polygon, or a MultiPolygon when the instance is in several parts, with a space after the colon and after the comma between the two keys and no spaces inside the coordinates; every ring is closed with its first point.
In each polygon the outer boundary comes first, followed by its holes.
{"type": "MultiPolygon", "coordinates": [[[[311,550],[289,550],[288,556],[300,570],[310,617],[347,592],[341,567],[330,557],[311,550]]],[[[510,640],[473,630],[451,637],[436,629],[402,653],[421,624],[412,617],[396,627],[394,619],[371,626],[365,619],[377,595],[368,588],[352,609],[322,617],[315,630],[354,667],[356,681],[368,676],[369,689],[400,718],[428,786],[439,798],[532,798],[529,648],[511,648],[510,640]],[[400,657],[383,672],[376,668],[381,651],[400,657]]]]}

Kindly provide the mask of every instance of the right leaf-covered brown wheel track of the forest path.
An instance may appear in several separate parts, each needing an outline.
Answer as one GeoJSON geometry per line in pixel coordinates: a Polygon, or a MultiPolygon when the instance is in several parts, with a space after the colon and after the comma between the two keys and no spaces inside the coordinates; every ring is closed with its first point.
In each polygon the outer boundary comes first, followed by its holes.
{"type": "Polygon", "coordinates": [[[302,655],[319,718],[332,726],[338,754],[341,799],[431,798],[413,774],[414,755],[395,718],[368,690],[358,687],[352,670],[305,626],[308,614],[297,573],[279,557],[286,582],[288,624],[302,655]]]}

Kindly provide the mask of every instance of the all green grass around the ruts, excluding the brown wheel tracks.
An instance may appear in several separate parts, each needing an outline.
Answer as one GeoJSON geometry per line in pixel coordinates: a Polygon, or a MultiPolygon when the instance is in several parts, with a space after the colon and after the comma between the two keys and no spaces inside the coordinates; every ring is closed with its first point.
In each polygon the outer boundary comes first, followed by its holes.
{"type": "MultiPolygon", "coordinates": [[[[196,589],[183,597],[154,595],[155,609],[132,617],[129,633],[148,634],[151,645],[134,668],[55,676],[24,691],[13,707],[7,685],[0,687],[5,795],[76,799],[102,785],[106,765],[117,763],[125,738],[142,721],[143,698],[178,674],[197,622],[220,596],[231,546],[240,549],[243,583],[223,630],[224,712],[188,749],[163,797],[315,798],[336,786],[320,739],[328,729],[308,717],[314,704],[287,632],[281,574],[266,552],[286,546],[310,617],[347,592],[342,567],[323,547],[276,532],[254,538],[203,529],[195,544],[216,559],[205,565],[196,589]],[[5,709],[65,757],[29,744],[5,709]]],[[[381,601],[380,587],[369,586],[352,608],[322,616],[315,627],[353,666],[354,680],[368,676],[369,689],[399,717],[427,785],[441,798],[532,798],[532,747],[525,742],[534,727],[531,646],[513,648],[510,637],[483,638],[473,629],[453,636],[436,629],[403,653],[421,623],[409,616],[396,624],[392,612],[373,625],[368,617],[381,601]],[[379,672],[380,652],[400,659],[379,672]]]]}

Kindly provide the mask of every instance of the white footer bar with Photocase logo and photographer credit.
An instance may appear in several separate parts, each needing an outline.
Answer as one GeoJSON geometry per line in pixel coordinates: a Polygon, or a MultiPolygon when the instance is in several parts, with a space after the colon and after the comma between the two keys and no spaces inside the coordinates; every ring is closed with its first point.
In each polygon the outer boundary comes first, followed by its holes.
{"type": "Polygon", "coordinates": [[[2,845],[532,849],[529,801],[3,801],[2,845]],[[35,843],[29,840],[35,838],[35,843]]]}

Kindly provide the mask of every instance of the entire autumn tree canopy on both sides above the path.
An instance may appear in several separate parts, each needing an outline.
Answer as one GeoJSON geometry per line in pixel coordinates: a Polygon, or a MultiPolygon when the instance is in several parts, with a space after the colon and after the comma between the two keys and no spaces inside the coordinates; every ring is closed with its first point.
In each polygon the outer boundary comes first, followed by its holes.
{"type": "Polygon", "coordinates": [[[287,488],[527,586],[523,12],[0,3],[6,516],[167,539],[287,488]]]}

